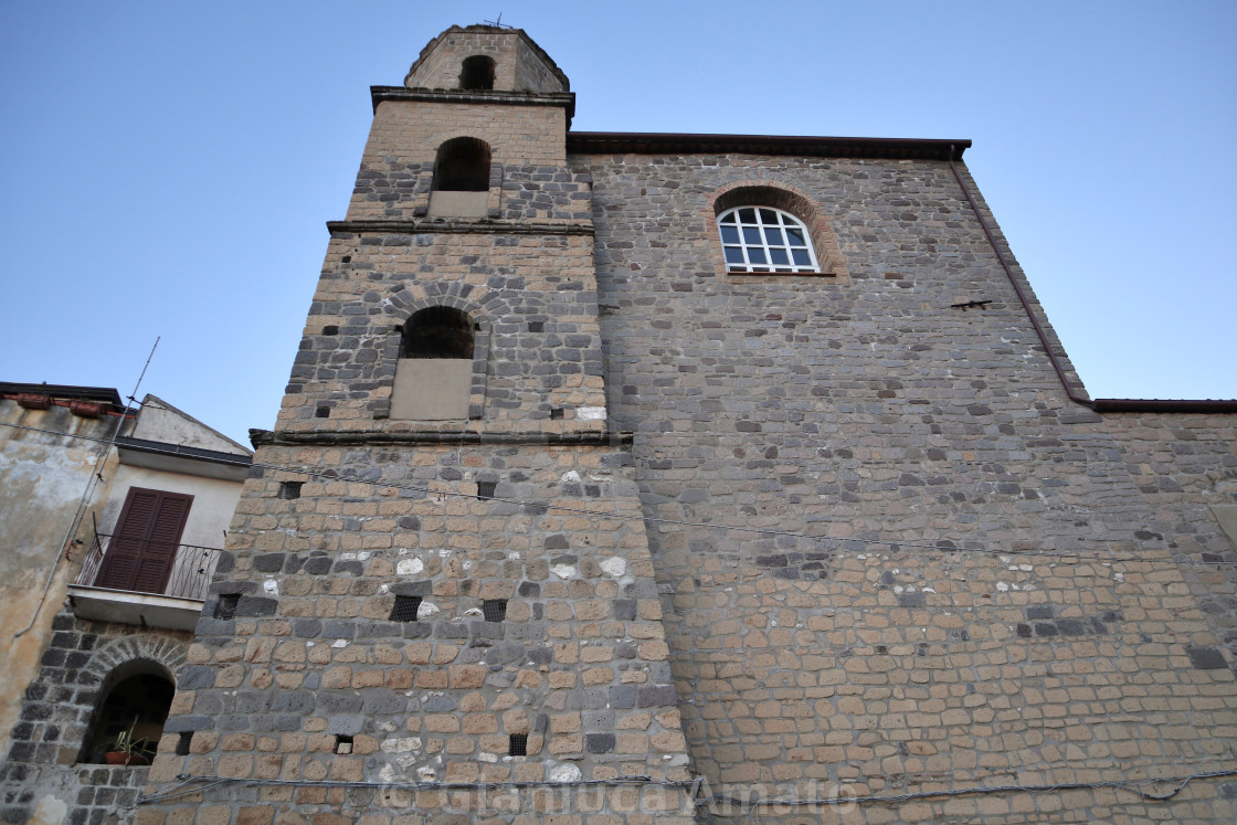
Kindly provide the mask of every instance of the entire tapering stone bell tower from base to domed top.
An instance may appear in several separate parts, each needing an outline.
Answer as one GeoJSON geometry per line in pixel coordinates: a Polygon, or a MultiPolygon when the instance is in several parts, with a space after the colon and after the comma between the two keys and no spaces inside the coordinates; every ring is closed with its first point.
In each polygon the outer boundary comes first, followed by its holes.
{"type": "Polygon", "coordinates": [[[452,27],[372,100],[142,821],[691,821],[568,79],[452,27]]]}

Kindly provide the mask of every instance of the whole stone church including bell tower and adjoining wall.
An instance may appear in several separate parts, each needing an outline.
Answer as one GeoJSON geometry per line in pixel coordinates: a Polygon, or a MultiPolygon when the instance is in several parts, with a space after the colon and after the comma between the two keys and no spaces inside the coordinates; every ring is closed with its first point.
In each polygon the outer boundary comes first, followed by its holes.
{"type": "Polygon", "coordinates": [[[1237,402],[1091,400],[969,141],[372,101],[121,820],[1237,819],[1237,402]]]}

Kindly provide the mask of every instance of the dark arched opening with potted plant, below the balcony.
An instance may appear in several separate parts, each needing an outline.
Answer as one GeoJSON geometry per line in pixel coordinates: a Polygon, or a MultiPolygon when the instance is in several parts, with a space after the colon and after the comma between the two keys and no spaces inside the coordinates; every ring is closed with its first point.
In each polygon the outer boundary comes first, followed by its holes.
{"type": "Polygon", "coordinates": [[[139,659],[118,667],[104,680],[103,701],[95,707],[82,762],[148,764],[163,735],[174,693],[176,685],[161,664],[139,659]],[[109,753],[124,753],[127,758],[116,762],[109,753]]]}

